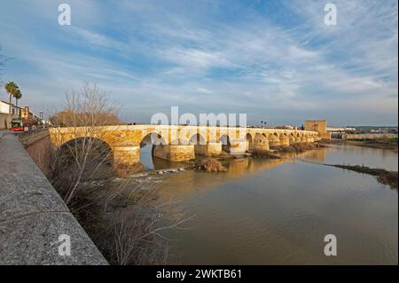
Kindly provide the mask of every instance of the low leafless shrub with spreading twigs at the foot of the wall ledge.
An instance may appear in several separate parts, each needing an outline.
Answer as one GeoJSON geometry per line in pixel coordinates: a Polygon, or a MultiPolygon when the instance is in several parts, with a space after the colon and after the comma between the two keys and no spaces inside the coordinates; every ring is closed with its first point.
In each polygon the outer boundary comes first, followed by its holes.
{"type": "Polygon", "coordinates": [[[118,207],[108,214],[105,232],[99,236],[100,249],[114,264],[167,264],[168,237],[162,232],[183,229],[189,220],[184,214],[166,217],[163,208],[176,206],[177,201],[156,204],[158,187],[144,186],[127,179],[105,200],[106,211],[110,205],[118,207]]]}

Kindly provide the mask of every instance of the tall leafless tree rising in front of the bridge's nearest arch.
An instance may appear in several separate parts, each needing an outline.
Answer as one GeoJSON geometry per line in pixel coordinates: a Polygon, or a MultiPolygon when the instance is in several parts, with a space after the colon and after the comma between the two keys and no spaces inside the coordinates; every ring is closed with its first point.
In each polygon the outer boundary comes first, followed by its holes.
{"type": "MultiPolygon", "coordinates": [[[[63,127],[72,133],[72,140],[61,140],[54,152],[53,183],[61,188],[66,204],[74,195],[82,181],[95,177],[103,165],[112,163],[112,151],[104,143],[105,128],[118,124],[115,109],[106,100],[106,93],[96,84],[85,83],[82,90],[72,90],[66,94],[65,110],[54,114],[51,123],[62,135],[63,127]]],[[[112,171],[112,170],[109,170],[112,171]]]]}

